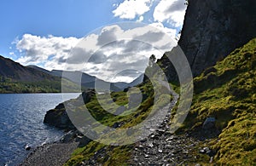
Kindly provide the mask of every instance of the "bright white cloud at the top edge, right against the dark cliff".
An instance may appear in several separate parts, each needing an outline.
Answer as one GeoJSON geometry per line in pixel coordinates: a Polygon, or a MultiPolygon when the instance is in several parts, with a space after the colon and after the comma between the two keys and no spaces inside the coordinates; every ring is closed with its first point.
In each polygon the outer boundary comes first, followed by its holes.
{"type": "Polygon", "coordinates": [[[183,0],[161,0],[154,9],[154,21],[166,21],[172,26],[182,26],[186,5],[183,0]]]}

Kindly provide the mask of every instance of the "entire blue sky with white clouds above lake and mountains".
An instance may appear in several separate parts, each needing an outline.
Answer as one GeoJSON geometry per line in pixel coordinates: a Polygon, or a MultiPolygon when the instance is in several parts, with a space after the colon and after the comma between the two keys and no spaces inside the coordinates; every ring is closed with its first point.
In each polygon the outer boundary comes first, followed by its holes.
{"type": "Polygon", "coordinates": [[[2,0],[0,54],[24,66],[131,82],[172,49],[185,0],[2,0]]]}

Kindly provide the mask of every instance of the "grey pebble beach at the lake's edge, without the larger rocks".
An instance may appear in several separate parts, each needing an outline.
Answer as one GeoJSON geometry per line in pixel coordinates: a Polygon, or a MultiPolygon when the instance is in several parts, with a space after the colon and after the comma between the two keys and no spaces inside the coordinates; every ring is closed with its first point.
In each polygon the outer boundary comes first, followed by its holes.
{"type": "Polygon", "coordinates": [[[66,163],[72,152],[78,146],[78,142],[53,143],[39,146],[26,157],[22,166],[60,166],[66,163]]]}

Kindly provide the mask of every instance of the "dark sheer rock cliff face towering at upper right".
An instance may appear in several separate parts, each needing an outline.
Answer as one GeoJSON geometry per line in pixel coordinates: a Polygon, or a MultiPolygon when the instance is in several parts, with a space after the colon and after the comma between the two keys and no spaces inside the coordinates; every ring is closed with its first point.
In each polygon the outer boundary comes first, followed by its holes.
{"type": "Polygon", "coordinates": [[[256,37],[255,0],[189,0],[179,46],[194,76],[256,37]]]}

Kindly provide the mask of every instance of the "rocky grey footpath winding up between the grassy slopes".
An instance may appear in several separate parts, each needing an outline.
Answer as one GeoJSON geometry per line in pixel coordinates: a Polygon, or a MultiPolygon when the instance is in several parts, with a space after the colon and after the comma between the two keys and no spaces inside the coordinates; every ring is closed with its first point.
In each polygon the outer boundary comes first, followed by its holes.
{"type": "Polygon", "coordinates": [[[148,138],[136,144],[132,152],[131,165],[182,165],[193,157],[191,150],[198,141],[188,135],[173,135],[169,132],[171,110],[179,97],[172,89],[171,93],[171,107],[163,108],[168,109],[165,120],[148,138]]]}

